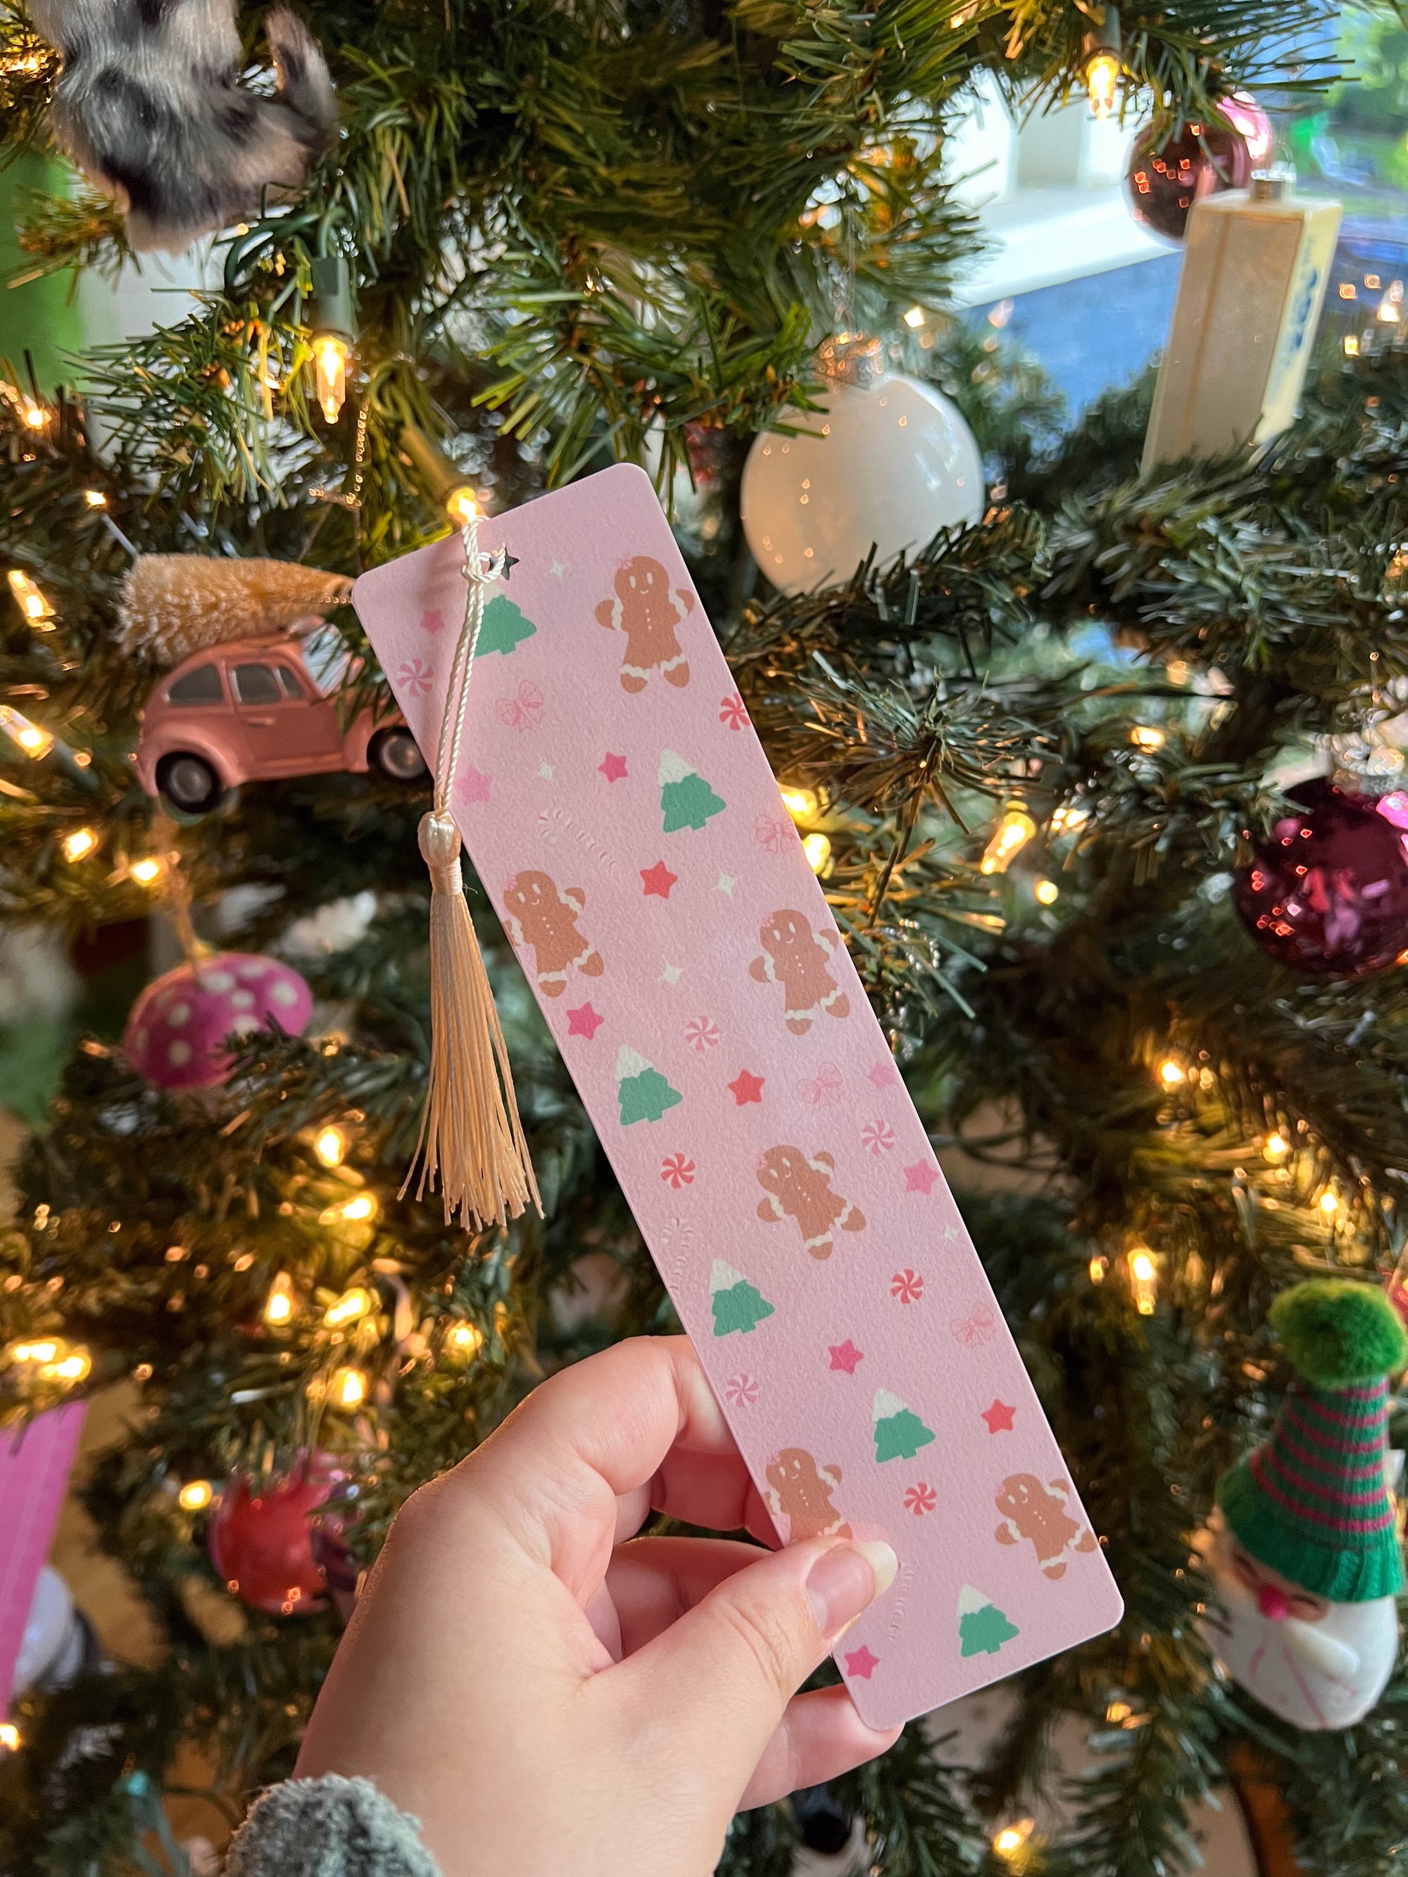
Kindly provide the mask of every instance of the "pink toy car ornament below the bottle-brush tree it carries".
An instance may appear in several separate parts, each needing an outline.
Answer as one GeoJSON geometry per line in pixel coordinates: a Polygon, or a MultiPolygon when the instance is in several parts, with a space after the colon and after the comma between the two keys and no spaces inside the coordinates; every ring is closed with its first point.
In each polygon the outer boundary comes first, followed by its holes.
{"type": "Polygon", "coordinates": [[[377,770],[392,783],[422,783],[430,771],[400,711],[381,721],[360,711],[342,726],[336,691],[347,663],[330,627],[193,651],[146,700],[137,781],[186,815],[205,815],[240,783],[280,775],[377,770]]]}

